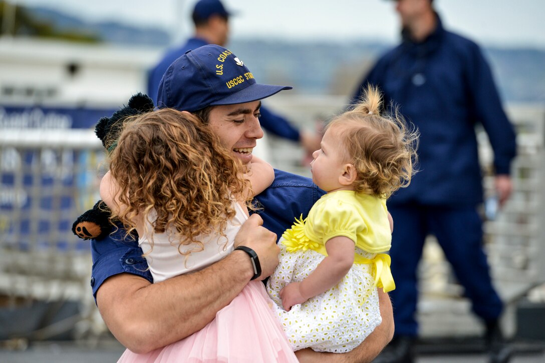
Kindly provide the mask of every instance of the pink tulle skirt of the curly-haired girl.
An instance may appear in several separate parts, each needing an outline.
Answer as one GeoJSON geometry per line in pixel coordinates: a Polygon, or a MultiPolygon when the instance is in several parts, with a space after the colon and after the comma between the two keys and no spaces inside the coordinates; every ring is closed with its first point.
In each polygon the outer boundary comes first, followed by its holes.
{"type": "Polygon", "coordinates": [[[271,304],[263,283],[250,281],[202,330],[147,354],[126,349],[118,363],[298,362],[271,304]]]}

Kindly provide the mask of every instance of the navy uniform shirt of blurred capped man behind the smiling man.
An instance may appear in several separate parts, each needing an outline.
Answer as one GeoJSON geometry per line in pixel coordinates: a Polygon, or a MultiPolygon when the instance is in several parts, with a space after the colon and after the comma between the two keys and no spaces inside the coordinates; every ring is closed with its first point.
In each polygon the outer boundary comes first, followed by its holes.
{"type": "MultiPolygon", "coordinates": [[[[153,99],[153,103],[157,105],[157,93],[159,91],[159,83],[165,74],[169,65],[176,59],[183,56],[188,50],[196,49],[208,45],[208,43],[199,38],[190,38],[187,42],[175,49],[169,50],[152,70],[148,72],[148,96],[153,99]]],[[[261,107],[261,118],[259,118],[261,126],[276,136],[287,138],[292,141],[299,141],[299,130],[294,128],[287,119],[271,112],[266,107],[261,107]]]]}

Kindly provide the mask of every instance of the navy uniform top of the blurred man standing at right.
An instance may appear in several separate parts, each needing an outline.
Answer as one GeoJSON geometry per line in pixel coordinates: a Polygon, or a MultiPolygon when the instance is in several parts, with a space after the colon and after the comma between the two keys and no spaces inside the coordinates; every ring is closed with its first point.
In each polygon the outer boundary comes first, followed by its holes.
{"type": "Polygon", "coordinates": [[[482,202],[475,126],[494,150],[496,174],[509,174],[516,154],[513,126],[502,109],[490,68],[473,41],[437,28],[422,43],[405,37],[361,82],[384,92],[420,131],[418,173],[389,203],[475,205],[482,202]]]}

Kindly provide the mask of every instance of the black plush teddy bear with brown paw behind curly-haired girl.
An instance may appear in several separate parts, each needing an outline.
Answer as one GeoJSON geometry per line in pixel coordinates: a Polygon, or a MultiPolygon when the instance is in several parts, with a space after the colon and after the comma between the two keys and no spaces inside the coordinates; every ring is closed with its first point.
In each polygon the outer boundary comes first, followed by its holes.
{"type": "MultiPolygon", "coordinates": [[[[128,105],[114,112],[111,117],[102,117],[95,126],[95,134],[102,141],[102,146],[111,153],[117,146],[117,139],[123,129],[125,118],[153,111],[153,100],[147,95],[137,93],[131,97],[128,105]]],[[[102,201],[96,202],[72,225],[72,232],[83,239],[103,239],[112,230],[110,209],[102,201]]]]}

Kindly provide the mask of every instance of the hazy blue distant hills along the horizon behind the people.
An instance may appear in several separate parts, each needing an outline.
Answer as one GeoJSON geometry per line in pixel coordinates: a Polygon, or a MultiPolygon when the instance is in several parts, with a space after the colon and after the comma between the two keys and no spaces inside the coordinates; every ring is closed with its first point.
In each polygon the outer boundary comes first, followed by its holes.
{"type": "MultiPolygon", "coordinates": [[[[85,22],[77,17],[43,7],[28,8],[36,19],[59,31],[77,29],[82,34],[112,44],[166,48],[169,34],[158,28],[143,28],[115,22],[85,22]]],[[[288,41],[232,39],[228,47],[251,65],[260,82],[290,84],[293,92],[349,95],[376,58],[392,44],[360,40],[288,41]]],[[[545,102],[545,50],[486,47],[502,99],[545,102]]]]}

